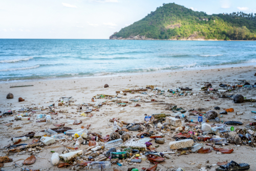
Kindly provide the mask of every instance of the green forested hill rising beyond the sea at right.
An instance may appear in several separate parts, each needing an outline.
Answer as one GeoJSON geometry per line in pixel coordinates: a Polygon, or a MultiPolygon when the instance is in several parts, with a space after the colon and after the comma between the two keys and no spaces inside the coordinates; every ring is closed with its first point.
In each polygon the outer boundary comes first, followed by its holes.
{"type": "Polygon", "coordinates": [[[175,3],[163,4],[110,39],[256,40],[256,13],[207,15],[175,3]]]}

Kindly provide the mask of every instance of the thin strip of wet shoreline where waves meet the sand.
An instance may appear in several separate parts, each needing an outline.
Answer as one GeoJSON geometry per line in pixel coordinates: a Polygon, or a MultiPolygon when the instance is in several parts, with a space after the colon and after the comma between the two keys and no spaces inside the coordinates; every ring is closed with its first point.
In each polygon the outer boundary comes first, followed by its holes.
{"type": "MultiPolygon", "coordinates": [[[[237,65],[237,64],[233,64],[237,65]]],[[[69,79],[91,79],[91,78],[109,78],[109,77],[122,77],[122,76],[136,76],[136,75],[143,75],[143,74],[158,74],[158,73],[173,73],[173,72],[188,72],[188,71],[207,71],[213,69],[228,69],[228,68],[238,68],[238,67],[253,67],[254,65],[244,65],[244,66],[233,66],[229,65],[230,67],[216,67],[216,68],[203,68],[203,69],[193,69],[185,70],[185,69],[177,69],[177,70],[158,70],[158,71],[150,71],[150,72],[134,72],[134,73],[123,73],[123,74],[106,74],[105,76],[73,76],[73,77],[55,77],[55,78],[41,78],[41,79],[24,79],[24,80],[10,80],[10,81],[0,81],[0,84],[6,83],[21,83],[21,82],[33,82],[33,81],[57,81],[57,80],[69,80],[69,79]]]]}

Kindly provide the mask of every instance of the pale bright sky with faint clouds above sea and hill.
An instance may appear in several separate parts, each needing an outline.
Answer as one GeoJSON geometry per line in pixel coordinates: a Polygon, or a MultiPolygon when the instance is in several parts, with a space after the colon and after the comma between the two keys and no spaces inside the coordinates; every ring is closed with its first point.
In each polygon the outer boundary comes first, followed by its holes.
{"type": "Polygon", "coordinates": [[[108,39],[165,3],[256,13],[255,0],[0,0],[0,38],[108,39]]]}

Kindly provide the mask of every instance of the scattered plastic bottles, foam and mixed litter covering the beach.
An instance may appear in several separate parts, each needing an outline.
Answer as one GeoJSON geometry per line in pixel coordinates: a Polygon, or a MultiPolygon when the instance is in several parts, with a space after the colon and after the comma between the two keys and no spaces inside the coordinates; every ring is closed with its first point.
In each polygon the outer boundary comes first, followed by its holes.
{"type": "MultiPolygon", "coordinates": [[[[108,84],[104,85],[104,88],[106,87],[109,87],[108,84]]],[[[220,89],[212,89],[210,82],[204,82],[202,86],[198,87],[202,93],[208,95],[209,99],[205,101],[227,98],[233,100],[233,103],[244,103],[254,100],[245,99],[239,94],[242,90],[255,88],[245,80],[239,80],[237,85],[222,83],[219,85],[220,89]],[[241,86],[241,82],[244,85],[241,86]],[[233,94],[228,95],[225,92],[232,92],[233,94]]],[[[8,157],[13,154],[30,154],[30,157],[25,159],[23,164],[33,164],[40,157],[40,153],[51,146],[61,146],[58,151],[52,150],[48,157],[52,166],[56,165],[58,168],[109,169],[114,165],[113,170],[123,170],[121,166],[126,166],[128,170],[133,171],[157,170],[159,163],[191,153],[228,155],[235,151],[235,149],[227,146],[229,144],[256,146],[256,122],[245,125],[239,119],[236,121],[222,119],[223,115],[234,112],[232,108],[224,109],[214,106],[210,110],[185,109],[177,104],[163,101],[164,98],[198,95],[197,92],[193,92],[188,87],[161,91],[154,86],[147,85],[146,88],[116,91],[116,93],[117,95],[97,94],[92,97],[92,102],[81,104],[72,97],[60,97],[56,103],[52,101],[52,104],[48,106],[31,108],[28,105],[26,108],[5,112],[2,117],[14,116],[13,120],[5,123],[6,126],[13,126],[16,124],[15,121],[20,120],[45,122],[44,124],[51,126],[41,131],[27,131],[22,136],[12,137],[10,139],[12,142],[2,148],[6,156],[0,157],[1,167],[13,161],[8,157]],[[124,93],[135,96],[126,100],[122,98],[124,93]],[[144,120],[133,123],[119,118],[109,118],[108,125],[110,125],[109,129],[111,130],[109,135],[102,135],[100,131],[90,129],[91,124],[97,123],[83,124],[82,120],[69,119],[70,116],[65,110],[66,107],[71,107],[79,113],[78,117],[90,118],[96,115],[103,105],[116,105],[121,108],[121,114],[123,108],[127,106],[140,108],[143,103],[158,103],[168,114],[159,113],[151,116],[145,114],[144,120]],[[58,114],[60,113],[67,114],[66,123],[58,123],[58,114]],[[80,125],[80,128],[73,129],[73,125],[80,125]],[[243,125],[243,128],[240,125],[243,125]],[[159,147],[164,147],[164,151],[158,150],[159,147]],[[140,168],[138,163],[152,163],[154,165],[140,168]]],[[[9,93],[7,98],[13,98],[13,95],[9,93]]],[[[19,98],[19,101],[24,101],[24,99],[19,98]]],[[[252,113],[256,112],[252,111],[252,113]]],[[[236,112],[236,114],[243,115],[243,112],[236,112]]],[[[14,127],[17,130],[20,128],[20,126],[14,127]]],[[[216,168],[217,170],[249,168],[249,164],[238,164],[235,161],[217,163],[217,165],[220,166],[216,168]]],[[[15,163],[14,166],[16,167],[15,163]]],[[[207,167],[202,167],[200,170],[207,170],[207,167]]],[[[22,169],[32,170],[25,167],[22,169]]],[[[175,170],[185,169],[180,167],[175,168],[175,170]]]]}

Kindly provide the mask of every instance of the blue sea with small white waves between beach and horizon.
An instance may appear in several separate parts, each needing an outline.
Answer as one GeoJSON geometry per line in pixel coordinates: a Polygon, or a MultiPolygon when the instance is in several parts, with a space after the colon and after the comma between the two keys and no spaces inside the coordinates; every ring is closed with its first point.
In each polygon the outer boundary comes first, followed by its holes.
{"type": "Polygon", "coordinates": [[[256,65],[256,41],[0,39],[0,81],[256,65]]]}

